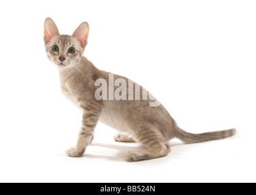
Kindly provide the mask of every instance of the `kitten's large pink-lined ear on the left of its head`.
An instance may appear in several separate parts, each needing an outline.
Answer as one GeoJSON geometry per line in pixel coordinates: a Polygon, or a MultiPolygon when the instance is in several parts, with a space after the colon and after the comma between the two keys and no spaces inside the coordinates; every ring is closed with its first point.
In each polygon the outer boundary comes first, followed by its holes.
{"type": "Polygon", "coordinates": [[[54,23],[53,19],[51,18],[45,19],[44,34],[45,35],[43,36],[43,40],[45,40],[45,44],[49,43],[49,41],[51,40],[51,38],[53,38],[53,36],[59,35],[59,30],[56,24],[54,23]]]}

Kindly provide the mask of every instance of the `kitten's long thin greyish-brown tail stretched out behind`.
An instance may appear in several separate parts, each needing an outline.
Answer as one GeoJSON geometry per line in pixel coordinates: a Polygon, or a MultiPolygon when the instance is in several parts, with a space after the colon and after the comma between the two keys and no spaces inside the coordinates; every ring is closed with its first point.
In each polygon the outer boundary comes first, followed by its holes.
{"type": "Polygon", "coordinates": [[[184,143],[192,144],[192,143],[201,143],[201,142],[211,141],[211,140],[221,140],[224,138],[232,137],[233,135],[236,134],[236,129],[228,129],[228,130],[220,130],[218,132],[194,134],[194,133],[185,132],[185,130],[180,129],[180,127],[178,127],[175,133],[176,133],[175,137],[177,137],[184,143]]]}

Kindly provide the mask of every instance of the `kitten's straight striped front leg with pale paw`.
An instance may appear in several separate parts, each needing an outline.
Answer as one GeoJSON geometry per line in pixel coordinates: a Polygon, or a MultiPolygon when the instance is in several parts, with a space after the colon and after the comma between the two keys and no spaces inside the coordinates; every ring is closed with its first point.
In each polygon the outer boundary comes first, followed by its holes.
{"type": "Polygon", "coordinates": [[[94,129],[97,125],[100,112],[92,108],[86,110],[82,115],[82,127],[78,134],[78,141],[76,147],[67,149],[66,154],[68,157],[81,157],[86,151],[86,147],[93,139],[94,129]]]}

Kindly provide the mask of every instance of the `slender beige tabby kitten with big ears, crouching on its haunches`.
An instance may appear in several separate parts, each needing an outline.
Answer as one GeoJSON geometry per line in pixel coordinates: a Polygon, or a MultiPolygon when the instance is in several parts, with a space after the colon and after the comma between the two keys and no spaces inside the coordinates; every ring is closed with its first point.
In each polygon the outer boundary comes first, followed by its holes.
{"type": "MultiPolygon", "coordinates": [[[[43,39],[47,57],[59,70],[62,93],[82,110],[82,126],[78,141],[75,147],[67,149],[67,156],[80,157],[84,154],[86,147],[92,143],[98,121],[119,130],[120,133],[114,137],[115,141],[136,141],[145,146],[141,151],[126,153],[125,159],[128,161],[149,160],[169,154],[171,149],[168,141],[172,138],[191,144],[235,135],[236,129],[199,134],[180,129],[162,104],[150,106],[149,103],[152,101],[141,99],[144,96],[142,87],[139,87],[142,90],[136,93],[134,85],[126,85],[125,90],[135,91],[134,96],[130,96],[128,100],[117,100],[113,97],[110,99],[110,94],[114,91],[115,94],[124,92],[119,90],[119,93],[116,93],[119,85],[114,85],[112,89],[109,88],[108,96],[104,95],[109,99],[98,99],[95,91],[100,85],[96,85],[96,82],[101,79],[110,85],[111,73],[97,69],[82,55],[88,42],[88,35],[89,24],[86,22],[80,24],[73,35],[60,35],[53,19],[45,19],[43,39]]],[[[129,82],[126,77],[116,74],[112,74],[112,77],[115,81],[129,82]]],[[[135,88],[136,86],[135,83],[135,88]]],[[[101,98],[103,92],[101,91],[101,98]]]]}

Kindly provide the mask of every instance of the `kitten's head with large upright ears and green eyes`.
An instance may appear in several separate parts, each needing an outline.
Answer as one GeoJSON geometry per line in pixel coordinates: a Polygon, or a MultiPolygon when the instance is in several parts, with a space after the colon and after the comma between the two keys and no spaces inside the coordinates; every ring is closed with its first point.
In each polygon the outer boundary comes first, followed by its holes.
{"type": "Polygon", "coordinates": [[[89,35],[88,23],[82,23],[72,36],[60,35],[53,19],[45,19],[44,37],[48,59],[59,69],[75,66],[82,57],[89,35]]]}

